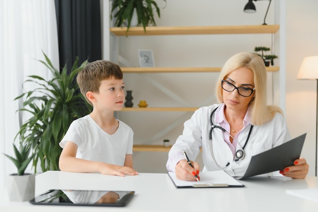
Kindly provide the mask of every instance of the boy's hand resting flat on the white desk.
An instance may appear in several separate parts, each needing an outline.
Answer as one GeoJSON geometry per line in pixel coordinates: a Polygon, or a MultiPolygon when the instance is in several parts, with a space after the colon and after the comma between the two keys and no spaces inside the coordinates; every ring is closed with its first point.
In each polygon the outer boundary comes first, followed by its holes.
{"type": "Polygon", "coordinates": [[[138,172],[136,170],[134,170],[130,167],[112,165],[112,164],[107,164],[107,163],[101,164],[100,172],[102,174],[118,175],[118,176],[137,175],[138,174],[138,172]]]}

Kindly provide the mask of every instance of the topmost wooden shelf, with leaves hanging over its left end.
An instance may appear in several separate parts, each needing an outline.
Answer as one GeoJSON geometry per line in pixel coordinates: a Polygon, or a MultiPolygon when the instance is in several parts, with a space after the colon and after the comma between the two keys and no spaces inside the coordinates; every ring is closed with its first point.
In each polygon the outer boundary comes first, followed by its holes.
{"type": "Polygon", "coordinates": [[[150,35],[207,35],[207,34],[272,34],[279,25],[235,25],[235,26],[147,26],[146,33],[142,26],[111,27],[110,32],[116,36],[150,36],[150,35]]]}

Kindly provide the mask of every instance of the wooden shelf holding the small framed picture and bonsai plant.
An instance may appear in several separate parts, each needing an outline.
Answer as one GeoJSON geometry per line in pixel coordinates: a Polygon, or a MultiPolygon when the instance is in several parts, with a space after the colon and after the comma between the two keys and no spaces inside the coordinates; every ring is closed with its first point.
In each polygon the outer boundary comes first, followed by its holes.
{"type": "MultiPolygon", "coordinates": [[[[191,72],[220,72],[220,67],[121,67],[123,73],[191,73],[191,72]]],[[[267,72],[279,71],[279,67],[266,67],[267,72]]]]}

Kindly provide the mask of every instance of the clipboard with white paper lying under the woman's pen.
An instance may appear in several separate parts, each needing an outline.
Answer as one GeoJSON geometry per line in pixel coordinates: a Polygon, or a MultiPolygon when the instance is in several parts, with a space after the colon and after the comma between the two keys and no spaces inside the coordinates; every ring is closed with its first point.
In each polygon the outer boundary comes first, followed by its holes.
{"type": "Polygon", "coordinates": [[[176,188],[233,188],[244,187],[238,180],[221,171],[205,171],[200,173],[200,181],[180,180],[174,172],[168,172],[176,188]]]}

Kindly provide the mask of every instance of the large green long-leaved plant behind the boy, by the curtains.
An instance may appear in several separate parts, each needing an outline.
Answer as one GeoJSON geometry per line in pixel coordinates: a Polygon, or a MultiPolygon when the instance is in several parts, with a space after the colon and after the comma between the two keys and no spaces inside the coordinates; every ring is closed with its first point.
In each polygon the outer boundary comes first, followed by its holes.
{"type": "Polygon", "coordinates": [[[78,57],[73,64],[70,74],[67,66],[61,73],[56,70],[50,59],[39,60],[53,74],[53,78],[44,78],[31,75],[25,83],[36,83],[38,88],[28,90],[15,98],[25,98],[20,111],[31,115],[20,127],[17,136],[25,145],[30,145],[36,153],[33,166],[37,173],[38,162],[42,171],[59,170],[58,159],[61,153],[59,142],[67,132],[74,119],[82,117],[91,111],[91,106],[79,92],[76,83],[77,74],[87,64],[87,60],[78,67],[78,57]]]}

